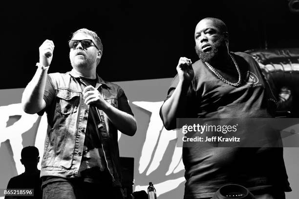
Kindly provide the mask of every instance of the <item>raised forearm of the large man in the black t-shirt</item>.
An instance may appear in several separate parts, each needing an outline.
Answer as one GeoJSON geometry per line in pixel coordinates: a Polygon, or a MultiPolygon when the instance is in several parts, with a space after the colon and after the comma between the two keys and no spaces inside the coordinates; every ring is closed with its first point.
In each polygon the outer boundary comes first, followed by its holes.
{"type": "Polygon", "coordinates": [[[162,105],[163,123],[167,130],[175,128],[176,118],[184,118],[190,83],[179,81],[171,97],[162,105]]]}

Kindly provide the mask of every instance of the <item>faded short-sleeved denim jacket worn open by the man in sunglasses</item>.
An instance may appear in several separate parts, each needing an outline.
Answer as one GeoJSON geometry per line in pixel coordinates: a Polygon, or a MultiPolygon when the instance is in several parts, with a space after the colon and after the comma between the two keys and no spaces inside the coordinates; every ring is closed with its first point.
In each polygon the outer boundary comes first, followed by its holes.
{"type": "MultiPolygon", "coordinates": [[[[75,178],[82,159],[89,112],[89,105],[84,103],[82,94],[86,84],[74,69],[65,74],[48,74],[48,78],[55,89],[55,96],[45,110],[39,113],[41,115],[46,111],[50,126],[44,143],[41,177],[75,178]]],[[[97,80],[96,89],[104,100],[120,110],[119,100],[122,100],[121,106],[126,106],[125,110],[132,114],[128,99],[120,86],[104,81],[98,75],[97,80]]],[[[103,125],[99,136],[107,168],[113,185],[121,186],[117,129],[102,110],[98,112],[103,125]]]]}

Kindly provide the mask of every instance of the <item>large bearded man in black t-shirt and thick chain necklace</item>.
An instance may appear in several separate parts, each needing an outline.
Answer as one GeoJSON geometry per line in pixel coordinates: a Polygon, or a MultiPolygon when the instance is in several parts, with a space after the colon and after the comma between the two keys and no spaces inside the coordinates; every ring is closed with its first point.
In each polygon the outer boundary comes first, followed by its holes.
{"type": "MultiPolygon", "coordinates": [[[[160,109],[166,129],[177,118],[271,118],[276,99],[258,63],[228,49],[225,23],[200,20],[194,33],[200,60],[180,58],[177,75],[160,109]]],[[[184,199],[210,199],[223,185],[240,184],[256,199],[284,199],[291,191],[282,148],[183,147],[184,199]]]]}

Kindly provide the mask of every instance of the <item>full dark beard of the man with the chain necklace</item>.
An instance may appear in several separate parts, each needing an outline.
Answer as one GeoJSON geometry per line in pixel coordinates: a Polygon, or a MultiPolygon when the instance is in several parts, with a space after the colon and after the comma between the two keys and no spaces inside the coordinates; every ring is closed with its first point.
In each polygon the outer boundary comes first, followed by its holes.
{"type": "Polygon", "coordinates": [[[217,60],[221,60],[223,52],[225,52],[227,49],[225,41],[226,40],[224,39],[224,36],[221,36],[213,44],[209,43],[212,49],[208,52],[203,52],[198,45],[195,45],[196,54],[198,55],[199,59],[203,62],[217,62],[217,60]]]}

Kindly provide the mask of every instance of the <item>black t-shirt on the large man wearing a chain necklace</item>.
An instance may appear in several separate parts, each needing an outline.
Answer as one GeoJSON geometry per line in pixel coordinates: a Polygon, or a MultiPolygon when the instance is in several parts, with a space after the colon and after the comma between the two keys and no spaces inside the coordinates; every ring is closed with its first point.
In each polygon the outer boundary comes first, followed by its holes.
{"type": "MultiPolygon", "coordinates": [[[[276,106],[275,98],[258,64],[245,53],[235,53],[234,57],[241,71],[239,87],[217,78],[201,60],[192,65],[194,79],[187,93],[186,118],[271,117],[269,112],[276,106]]],[[[236,72],[233,74],[237,76],[236,72]]],[[[178,81],[176,76],[167,99],[178,81]]],[[[185,199],[213,197],[217,189],[229,183],[252,189],[276,186],[290,190],[282,148],[207,148],[198,143],[194,147],[183,147],[183,162],[187,180],[185,199]]]]}

